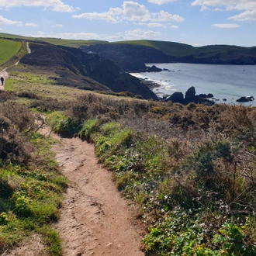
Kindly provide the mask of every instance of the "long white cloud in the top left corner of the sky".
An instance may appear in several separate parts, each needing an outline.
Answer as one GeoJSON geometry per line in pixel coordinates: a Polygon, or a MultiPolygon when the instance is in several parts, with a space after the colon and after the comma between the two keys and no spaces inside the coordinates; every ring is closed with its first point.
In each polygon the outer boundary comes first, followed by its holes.
{"type": "Polygon", "coordinates": [[[55,12],[74,12],[78,8],[65,5],[61,0],[1,0],[0,8],[10,9],[17,6],[50,7],[55,12]]]}

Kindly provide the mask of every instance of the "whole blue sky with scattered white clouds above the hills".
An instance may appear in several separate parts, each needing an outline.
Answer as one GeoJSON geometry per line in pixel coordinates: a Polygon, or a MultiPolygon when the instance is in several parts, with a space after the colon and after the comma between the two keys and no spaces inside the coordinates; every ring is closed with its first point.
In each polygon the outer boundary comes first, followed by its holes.
{"type": "Polygon", "coordinates": [[[256,0],[0,0],[0,33],[256,46],[256,0]]]}

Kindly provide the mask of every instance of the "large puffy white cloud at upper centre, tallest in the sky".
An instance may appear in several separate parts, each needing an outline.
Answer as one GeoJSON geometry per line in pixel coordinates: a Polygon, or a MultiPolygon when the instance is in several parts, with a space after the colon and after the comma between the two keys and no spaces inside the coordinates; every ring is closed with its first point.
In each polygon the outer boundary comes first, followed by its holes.
{"type": "Polygon", "coordinates": [[[149,12],[145,5],[138,2],[125,1],[121,8],[110,8],[108,12],[87,12],[80,15],[73,15],[73,18],[80,19],[102,19],[106,22],[121,22],[124,20],[132,22],[183,22],[182,16],[172,15],[171,13],[149,12]]]}

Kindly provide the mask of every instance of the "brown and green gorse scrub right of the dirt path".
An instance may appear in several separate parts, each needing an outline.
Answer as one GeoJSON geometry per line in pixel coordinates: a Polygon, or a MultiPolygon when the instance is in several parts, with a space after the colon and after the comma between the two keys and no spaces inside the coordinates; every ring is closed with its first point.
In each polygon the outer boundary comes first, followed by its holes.
{"type": "Polygon", "coordinates": [[[72,104],[54,119],[81,125],[137,203],[147,255],[256,254],[255,108],[93,94],[72,104]]]}

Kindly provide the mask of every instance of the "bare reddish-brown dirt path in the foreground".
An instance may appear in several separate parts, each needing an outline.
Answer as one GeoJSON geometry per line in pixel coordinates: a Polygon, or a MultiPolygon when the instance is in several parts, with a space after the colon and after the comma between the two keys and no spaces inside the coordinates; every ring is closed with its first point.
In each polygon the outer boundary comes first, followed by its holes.
{"type": "Polygon", "coordinates": [[[94,146],[78,138],[54,137],[61,140],[54,147],[56,159],[71,181],[55,225],[64,240],[64,256],[144,255],[134,209],[117,191],[112,173],[98,164],[94,146]]]}

